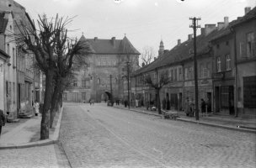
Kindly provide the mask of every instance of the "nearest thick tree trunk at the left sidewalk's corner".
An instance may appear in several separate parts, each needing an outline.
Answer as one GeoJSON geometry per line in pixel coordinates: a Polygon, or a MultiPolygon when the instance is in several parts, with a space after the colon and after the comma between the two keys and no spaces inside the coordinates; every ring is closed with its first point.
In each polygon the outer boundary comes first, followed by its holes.
{"type": "Polygon", "coordinates": [[[54,71],[48,70],[45,74],[45,99],[42,110],[40,139],[49,139],[49,118],[51,108],[51,92],[54,71]]]}

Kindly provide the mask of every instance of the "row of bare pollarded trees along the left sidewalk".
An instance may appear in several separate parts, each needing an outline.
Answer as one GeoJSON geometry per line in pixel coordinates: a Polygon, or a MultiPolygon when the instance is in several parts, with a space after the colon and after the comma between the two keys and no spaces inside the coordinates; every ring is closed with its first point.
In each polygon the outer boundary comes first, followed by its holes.
{"type": "Polygon", "coordinates": [[[92,50],[86,41],[67,36],[67,24],[72,18],[39,18],[32,24],[16,23],[19,34],[15,41],[25,50],[35,54],[35,64],[45,75],[45,97],[41,110],[40,139],[49,139],[56,111],[62,101],[62,93],[72,80],[73,71],[86,64],[92,50]]]}

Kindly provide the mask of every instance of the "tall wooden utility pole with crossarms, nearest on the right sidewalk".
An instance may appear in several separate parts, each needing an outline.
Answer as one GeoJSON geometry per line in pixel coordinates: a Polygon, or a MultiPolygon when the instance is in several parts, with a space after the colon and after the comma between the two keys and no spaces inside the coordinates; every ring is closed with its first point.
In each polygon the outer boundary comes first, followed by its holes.
{"type": "Polygon", "coordinates": [[[197,80],[197,60],[196,60],[196,29],[200,28],[198,20],[201,18],[189,18],[192,20],[192,25],[189,28],[194,29],[194,75],[195,75],[195,120],[199,120],[199,107],[198,107],[198,80],[197,80]]]}

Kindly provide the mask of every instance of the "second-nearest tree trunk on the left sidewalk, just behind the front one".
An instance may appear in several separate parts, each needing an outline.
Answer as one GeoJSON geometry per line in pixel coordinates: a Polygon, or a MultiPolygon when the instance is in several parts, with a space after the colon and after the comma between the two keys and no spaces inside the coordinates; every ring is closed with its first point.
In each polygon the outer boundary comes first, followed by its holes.
{"type": "Polygon", "coordinates": [[[61,79],[56,80],[56,86],[54,88],[54,92],[51,97],[51,118],[50,118],[50,128],[52,128],[52,124],[54,121],[54,118],[56,116],[56,110],[57,110],[57,102],[58,97],[61,92],[61,79]]]}

